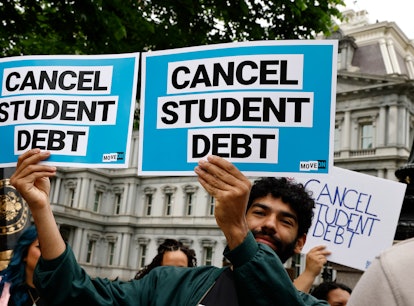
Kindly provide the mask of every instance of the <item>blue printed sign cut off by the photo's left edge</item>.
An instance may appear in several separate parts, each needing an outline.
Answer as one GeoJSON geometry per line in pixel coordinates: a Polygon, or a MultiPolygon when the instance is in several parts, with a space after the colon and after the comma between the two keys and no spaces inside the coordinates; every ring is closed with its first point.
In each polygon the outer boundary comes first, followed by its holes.
{"type": "Polygon", "coordinates": [[[0,167],[31,148],[59,166],[125,168],[139,56],[0,59],[0,167]]]}

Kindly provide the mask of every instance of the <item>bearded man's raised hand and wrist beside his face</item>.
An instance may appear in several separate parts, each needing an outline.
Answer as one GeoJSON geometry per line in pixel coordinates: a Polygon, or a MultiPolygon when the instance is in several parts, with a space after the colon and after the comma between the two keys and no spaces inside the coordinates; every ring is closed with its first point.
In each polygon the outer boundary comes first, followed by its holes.
{"type": "Polygon", "coordinates": [[[246,208],[251,182],[232,163],[218,156],[201,160],[194,169],[200,184],[215,198],[214,215],[230,250],[246,238],[246,208]]]}

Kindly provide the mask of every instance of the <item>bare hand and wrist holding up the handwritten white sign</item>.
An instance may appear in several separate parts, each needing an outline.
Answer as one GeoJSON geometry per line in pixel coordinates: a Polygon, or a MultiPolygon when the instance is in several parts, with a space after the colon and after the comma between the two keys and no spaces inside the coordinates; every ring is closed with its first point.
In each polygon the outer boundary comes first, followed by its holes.
{"type": "Polygon", "coordinates": [[[324,245],[318,245],[309,250],[306,254],[305,270],[293,281],[298,290],[306,293],[310,291],[315,278],[321,273],[327,262],[326,256],[330,254],[331,252],[324,245]]]}

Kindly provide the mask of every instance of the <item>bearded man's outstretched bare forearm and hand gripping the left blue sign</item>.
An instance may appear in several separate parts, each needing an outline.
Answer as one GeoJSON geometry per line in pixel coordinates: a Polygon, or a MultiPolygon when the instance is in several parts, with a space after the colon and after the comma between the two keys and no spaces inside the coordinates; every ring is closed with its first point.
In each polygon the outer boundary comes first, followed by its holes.
{"type": "Polygon", "coordinates": [[[40,163],[49,156],[50,152],[40,149],[22,154],[10,178],[10,183],[20,192],[32,212],[44,259],[54,259],[66,249],[49,202],[49,177],[56,174],[56,167],[40,163]]]}

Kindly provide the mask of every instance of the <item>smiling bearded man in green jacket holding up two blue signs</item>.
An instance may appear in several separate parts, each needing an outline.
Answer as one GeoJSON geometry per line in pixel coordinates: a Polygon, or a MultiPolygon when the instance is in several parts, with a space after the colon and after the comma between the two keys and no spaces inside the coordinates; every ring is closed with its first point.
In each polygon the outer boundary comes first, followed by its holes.
{"type": "Polygon", "coordinates": [[[328,305],[298,291],[282,262],[300,252],[314,202],[302,185],[285,178],[250,180],[218,156],[195,173],[215,198],[215,218],[227,240],[232,267],[157,267],[128,282],[91,278],[60,236],[49,202],[56,168],[40,163],[49,152],[19,157],[10,181],[27,201],[42,257],[34,282],[48,305],[297,306],[328,305]]]}

